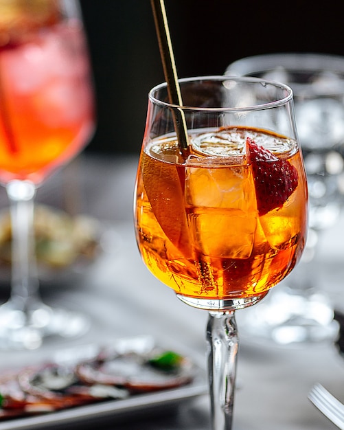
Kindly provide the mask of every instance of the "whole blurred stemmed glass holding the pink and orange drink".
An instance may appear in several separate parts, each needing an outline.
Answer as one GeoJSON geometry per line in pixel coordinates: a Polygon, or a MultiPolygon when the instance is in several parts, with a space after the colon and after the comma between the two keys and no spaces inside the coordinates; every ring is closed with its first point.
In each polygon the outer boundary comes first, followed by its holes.
{"type": "Polygon", "coordinates": [[[34,255],[34,196],[87,144],[93,87],[76,0],[0,0],[0,181],[12,223],[12,281],[0,306],[0,348],[73,337],[87,318],[43,304],[34,255]]]}

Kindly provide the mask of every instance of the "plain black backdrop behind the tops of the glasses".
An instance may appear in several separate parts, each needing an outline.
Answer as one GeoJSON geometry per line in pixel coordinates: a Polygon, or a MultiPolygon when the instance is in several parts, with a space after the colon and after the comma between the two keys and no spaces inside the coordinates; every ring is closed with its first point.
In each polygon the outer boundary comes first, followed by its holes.
{"type": "MultiPolygon", "coordinates": [[[[147,93],[164,80],[150,0],[80,0],[98,127],[87,151],[139,153],[147,93]]],[[[341,1],[165,0],[180,78],[269,52],[344,55],[341,1]]]]}

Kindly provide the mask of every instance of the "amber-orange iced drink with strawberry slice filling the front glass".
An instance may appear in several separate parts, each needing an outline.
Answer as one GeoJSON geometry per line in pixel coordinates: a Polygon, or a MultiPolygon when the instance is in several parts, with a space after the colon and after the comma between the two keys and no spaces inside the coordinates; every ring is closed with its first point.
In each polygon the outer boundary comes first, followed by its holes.
{"type": "Polygon", "coordinates": [[[256,128],[153,140],[137,177],[137,240],[152,273],[179,295],[259,296],[303,248],[306,180],[295,140],[256,128]],[[264,147],[262,146],[264,145],[264,147]]]}

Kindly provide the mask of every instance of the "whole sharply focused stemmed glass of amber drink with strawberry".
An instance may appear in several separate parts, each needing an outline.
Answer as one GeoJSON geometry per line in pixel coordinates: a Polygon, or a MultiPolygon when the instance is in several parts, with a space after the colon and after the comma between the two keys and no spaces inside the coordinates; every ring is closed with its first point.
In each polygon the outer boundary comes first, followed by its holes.
{"type": "Polygon", "coordinates": [[[136,236],[148,269],[185,304],[208,311],[212,426],[228,430],[235,311],[260,302],[299,260],[306,173],[289,87],[226,76],[179,84],[183,106],[167,102],[167,84],[149,93],[136,236]],[[182,123],[186,148],[175,133],[182,123]]]}

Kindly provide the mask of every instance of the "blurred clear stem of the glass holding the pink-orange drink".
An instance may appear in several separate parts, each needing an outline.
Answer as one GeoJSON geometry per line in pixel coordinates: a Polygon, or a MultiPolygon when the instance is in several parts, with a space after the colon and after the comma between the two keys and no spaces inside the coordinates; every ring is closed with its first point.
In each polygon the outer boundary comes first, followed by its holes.
{"type": "Polygon", "coordinates": [[[34,196],[30,181],[11,181],[6,186],[12,225],[11,302],[19,310],[38,301],[38,276],[34,245],[34,196]]]}

